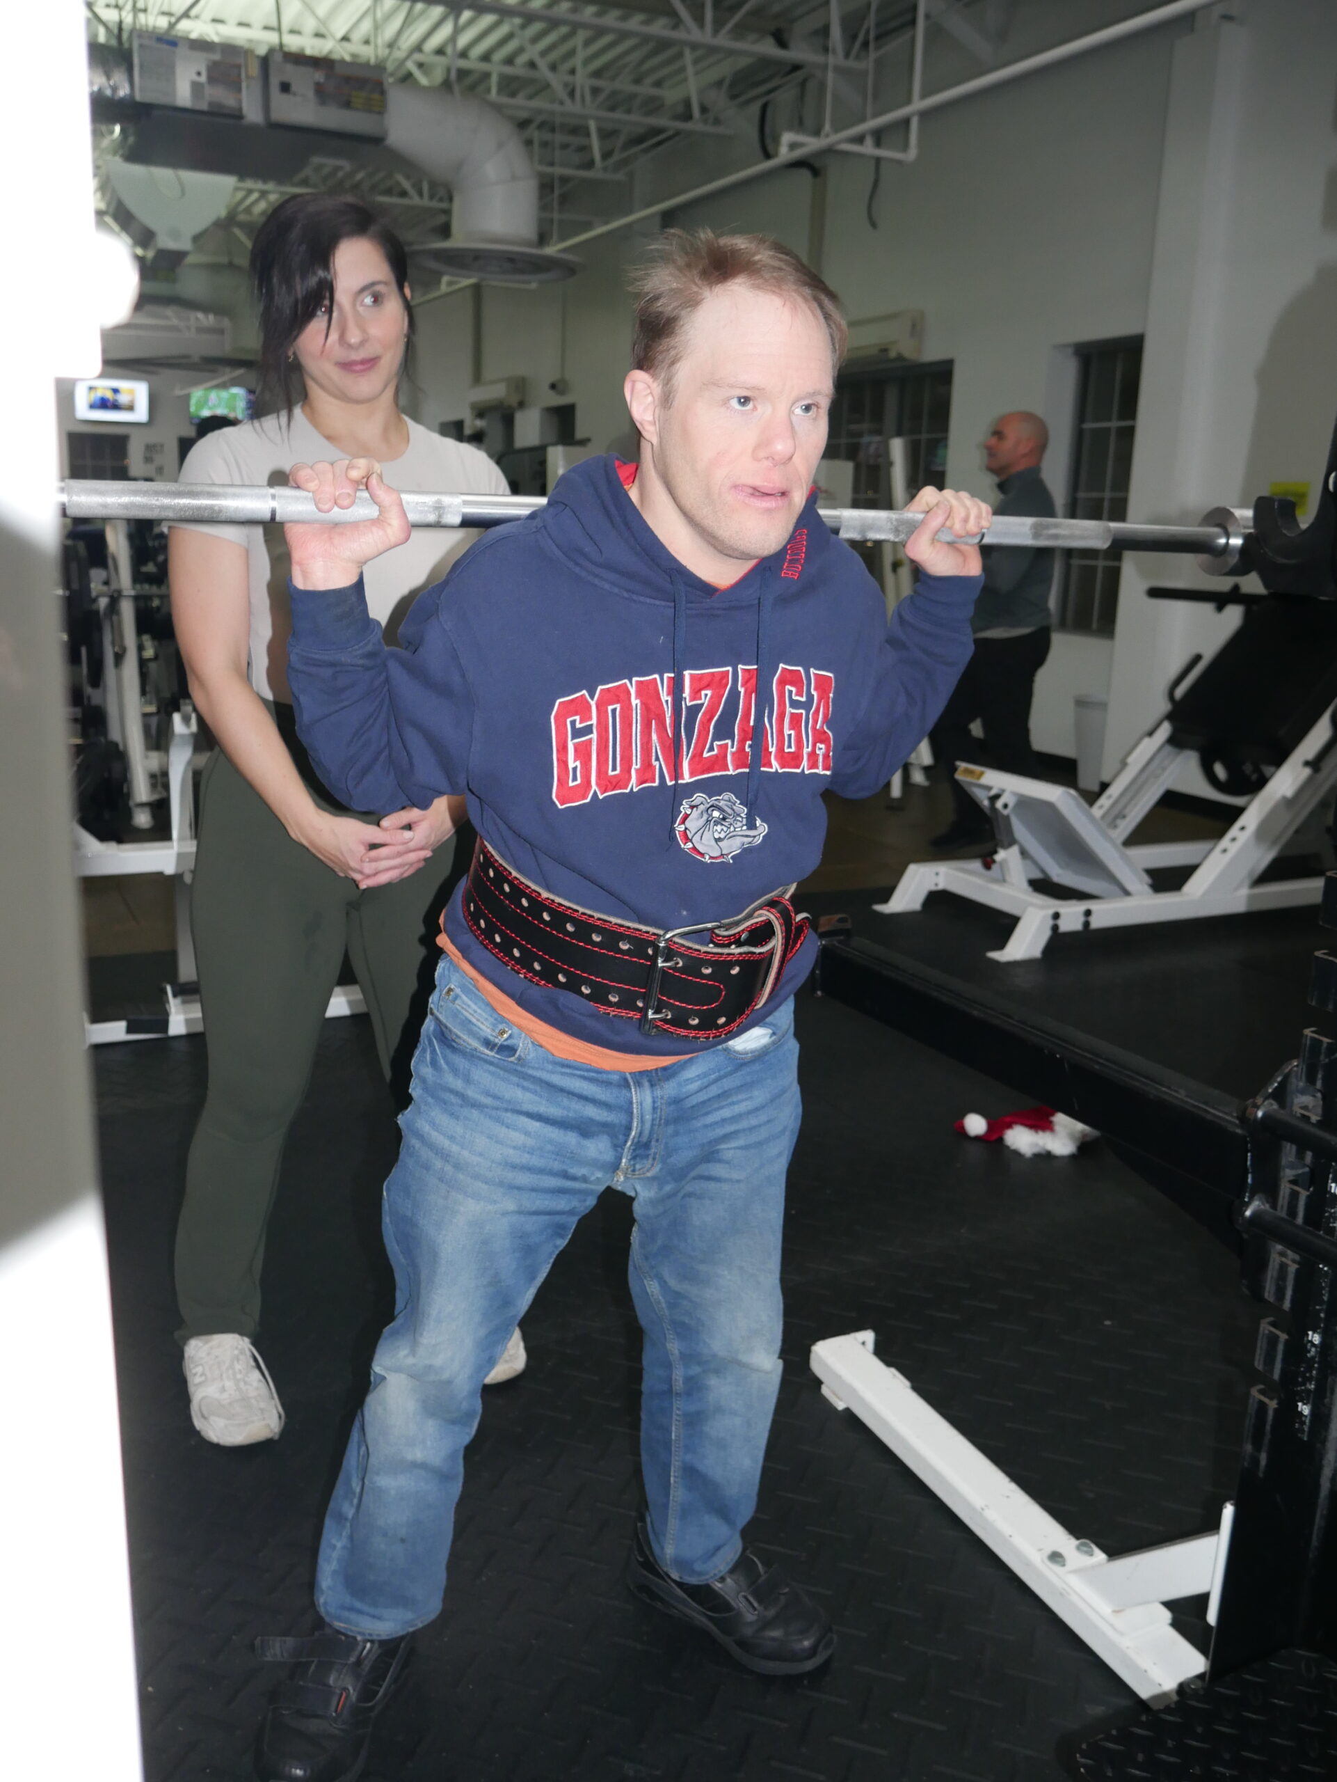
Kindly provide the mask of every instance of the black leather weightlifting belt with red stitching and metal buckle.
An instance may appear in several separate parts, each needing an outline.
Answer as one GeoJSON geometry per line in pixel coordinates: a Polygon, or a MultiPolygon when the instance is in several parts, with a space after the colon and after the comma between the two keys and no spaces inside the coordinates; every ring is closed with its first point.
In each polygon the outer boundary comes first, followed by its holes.
{"type": "Polygon", "coordinates": [[[522,978],[677,1039],[721,1039],[741,1026],[808,934],[808,918],[782,893],[687,928],[595,916],[511,871],[486,841],[474,852],[463,909],[474,937],[522,978]]]}

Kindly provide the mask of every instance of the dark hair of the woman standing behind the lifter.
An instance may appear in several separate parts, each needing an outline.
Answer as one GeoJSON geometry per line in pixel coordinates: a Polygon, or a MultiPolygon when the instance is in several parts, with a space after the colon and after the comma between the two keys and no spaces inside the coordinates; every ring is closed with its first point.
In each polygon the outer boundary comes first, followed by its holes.
{"type": "MultiPolygon", "coordinates": [[[[342,241],[374,241],[386,257],[408,315],[408,255],[390,225],[360,198],[338,192],[297,192],[274,205],[251,244],[251,289],[260,308],[260,390],[265,413],[296,408],[303,394],[301,371],[292,360],[297,335],[335,301],[335,249],[342,241]]],[[[408,347],[406,347],[408,353],[408,347]]]]}

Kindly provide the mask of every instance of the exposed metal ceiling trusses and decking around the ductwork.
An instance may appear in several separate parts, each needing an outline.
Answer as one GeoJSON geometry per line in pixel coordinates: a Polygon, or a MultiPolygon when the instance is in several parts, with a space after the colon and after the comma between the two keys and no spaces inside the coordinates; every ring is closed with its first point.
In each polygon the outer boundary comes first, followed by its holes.
{"type": "MultiPolygon", "coordinates": [[[[1015,0],[924,0],[926,18],[990,62],[1015,0]]],[[[374,62],[392,80],[475,93],[515,119],[555,237],[625,208],[630,173],[668,143],[735,137],[785,89],[830,127],[867,116],[876,59],[913,30],[915,0],[87,0],[89,36],[134,30],[374,62]],[[591,207],[589,208],[584,207],[591,207]]],[[[114,153],[103,139],[101,153],[114,153]]],[[[288,191],[354,189],[406,241],[440,239],[450,194],[422,178],[317,157],[296,184],[242,182],[221,228],[237,244],[288,191]]]]}

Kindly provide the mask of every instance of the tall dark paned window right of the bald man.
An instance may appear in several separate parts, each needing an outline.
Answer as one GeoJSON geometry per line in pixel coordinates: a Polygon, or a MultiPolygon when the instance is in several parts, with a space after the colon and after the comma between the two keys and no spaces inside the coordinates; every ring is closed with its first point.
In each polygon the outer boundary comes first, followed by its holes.
{"type": "MultiPolygon", "coordinates": [[[[1100,340],[1077,349],[1077,426],[1074,429],[1068,517],[1125,520],[1138,421],[1141,339],[1100,340]]],[[[1116,551],[1059,551],[1057,625],[1111,636],[1118,609],[1116,551]]]]}

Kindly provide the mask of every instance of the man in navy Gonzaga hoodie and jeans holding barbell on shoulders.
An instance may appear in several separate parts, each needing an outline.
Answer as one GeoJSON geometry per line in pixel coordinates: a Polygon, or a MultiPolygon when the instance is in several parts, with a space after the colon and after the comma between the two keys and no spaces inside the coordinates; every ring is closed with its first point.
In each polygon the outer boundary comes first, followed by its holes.
{"type": "Polygon", "coordinates": [[[260,1775],[335,1782],[413,1629],[442,1606],[479,1388],[577,1219],[636,1203],[646,1513],[628,1582],[750,1670],[835,1645],[744,1545],[780,1379],[783,1181],[799,1119],[789,903],[821,793],[863,797],[936,718],[970,652],[990,510],[922,490],[917,597],[890,629],[819,520],[846,328],[758,237],[671,233],[639,274],[627,401],[639,470],[589,460],[482,540],[386,652],[360,570],[408,520],[370,462],[299,465],[290,684],[303,740],[356,809],[465,791],[479,830],[386,1183],[397,1317],[320,1545],[312,1641],[260,1775]]]}

